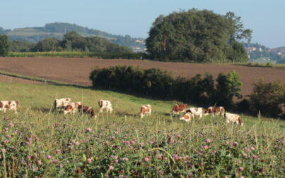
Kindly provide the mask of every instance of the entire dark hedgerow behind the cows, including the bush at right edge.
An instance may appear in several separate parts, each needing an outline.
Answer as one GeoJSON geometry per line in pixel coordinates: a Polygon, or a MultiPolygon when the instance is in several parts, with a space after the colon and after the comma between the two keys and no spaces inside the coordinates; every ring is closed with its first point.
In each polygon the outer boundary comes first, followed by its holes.
{"type": "Polygon", "coordinates": [[[112,66],[96,68],[91,72],[93,87],[123,91],[160,99],[175,99],[202,106],[225,106],[227,110],[272,117],[284,117],[285,86],[281,82],[254,84],[248,98],[235,103],[233,99],[243,98],[240,94],[242,82],[234,70],[227,75],[220,73],[216,80],[205,72],[187,79],[174,78],[170,72],[156,68],[141,69],[133,66],[112,66]]]}

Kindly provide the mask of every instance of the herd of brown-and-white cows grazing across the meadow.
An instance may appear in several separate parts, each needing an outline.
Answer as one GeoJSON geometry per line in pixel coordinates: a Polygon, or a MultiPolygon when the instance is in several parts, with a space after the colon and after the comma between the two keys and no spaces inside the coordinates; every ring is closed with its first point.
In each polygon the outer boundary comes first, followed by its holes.
{"type": "MultiPolygon", "coordinates": [[[[103,110],[106,110],[107,113],[112,113],[113,109],[112,103],[110,101],[100,99],[98,101],[98,105],[100,107],[99,113],[103,113],[103,110]]],[[[17,113],[17,108],[18,101],[0,101],[0,111],[4,111],[4,113],[6,113],[6,110],[13,110],[15,113],[17,113]]],[[[95,110],[91,106],[84,106],[81,101],[72,102],[71,98],[55,99],[53,110],[63,110],[64,115],[68,113],[74,114],[76,112],[79,112],[87,114],[90,117],[97,117],[95,110]]],[[[180,120],[185,120],[185,122],[191,122],[195,116],[201,119],[203,115],[211,114],[211,117],[214,117],[214,115],[221,115],[225,117],[226,124],[229,122],[234,122],[238,125],[243,126],[243,121],[239,115],[233,113],[225,113],[225,108],[222,106],[211,106],[204,112],[204,108],[188,108],[187,104],[176,104],[173,106],[172,114],[178,115],[179,113],[183,113],[180,117],[180,120]]],[[[151,116],[151,105],[149,104],[141,106],[141,118],[146,115],[151,116]]]]}

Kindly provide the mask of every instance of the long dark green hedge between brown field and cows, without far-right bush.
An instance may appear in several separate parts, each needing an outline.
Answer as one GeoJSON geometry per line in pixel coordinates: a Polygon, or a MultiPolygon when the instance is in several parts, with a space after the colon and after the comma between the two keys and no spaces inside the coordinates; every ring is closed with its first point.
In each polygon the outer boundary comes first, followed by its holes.
{"type": "Polygon", "coordinates": [[[241,97],[242,85],[240,75],[235,71],[227,76],[220,74],[215,85],[209,73],[205,73],[204,78],[196,75],[190,79],[174,79],[167,71],[156,68],[142,70],[132,66],[95,69],[91,72],[90,80],[93,87],[191,103],[217,103],[226,108],[233,107],[233,97],[241,97]]]}

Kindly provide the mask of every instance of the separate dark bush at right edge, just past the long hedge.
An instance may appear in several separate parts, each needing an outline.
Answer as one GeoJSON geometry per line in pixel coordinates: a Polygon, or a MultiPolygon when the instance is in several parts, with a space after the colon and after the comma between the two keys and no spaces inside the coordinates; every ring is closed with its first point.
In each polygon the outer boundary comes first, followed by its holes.
{"type": "Polygon", "coordinates": [[[249,95],[250,110],[257,114],[280,117],[285,107],[285,85],[282,82],[253,84],[252,94],[249,95]]]}

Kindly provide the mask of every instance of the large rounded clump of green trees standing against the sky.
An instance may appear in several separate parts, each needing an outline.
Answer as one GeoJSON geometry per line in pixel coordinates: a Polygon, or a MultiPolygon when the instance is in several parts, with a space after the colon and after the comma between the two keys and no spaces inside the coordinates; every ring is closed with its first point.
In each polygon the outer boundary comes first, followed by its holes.
{"type": "Polygon", "coordinates": [[[193,8],[156,18],[146,46],[161,61],[246,61],[238,41],[250,39],[250,35],[251,30],[243,30],[234,13],[219,15],[193,8]]]}

